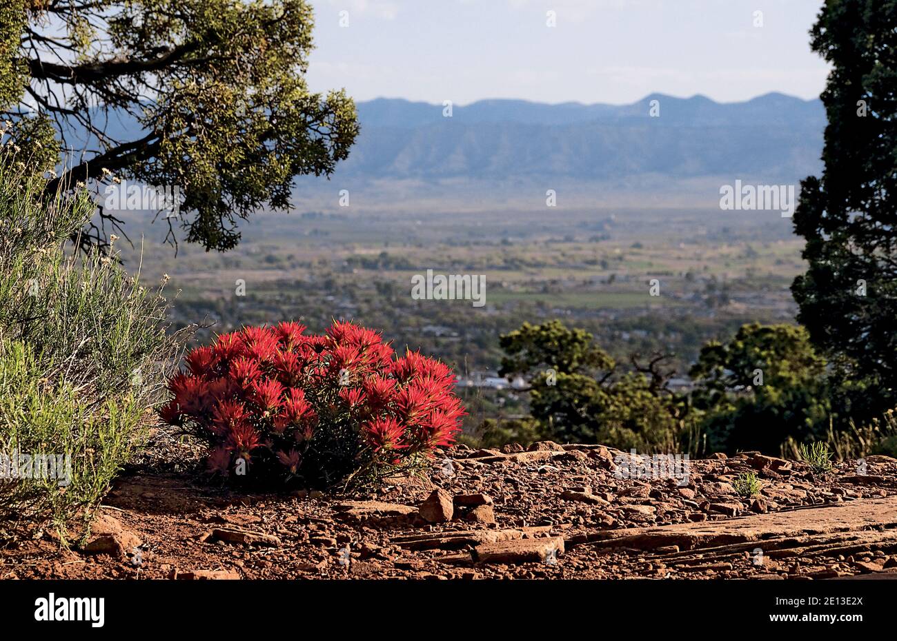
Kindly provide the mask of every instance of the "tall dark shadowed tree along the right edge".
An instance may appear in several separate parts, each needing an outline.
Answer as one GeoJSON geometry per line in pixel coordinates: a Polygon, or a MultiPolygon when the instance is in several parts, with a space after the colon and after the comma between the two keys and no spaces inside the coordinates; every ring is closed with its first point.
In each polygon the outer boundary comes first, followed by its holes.
{"type": "MultiPolygon", "coordinates": [[[[897,2],[830,0],[811,31],[832,65],[821,177],[794,216],[806,273],[798,321],[854,378],[897,387],[897,2]]],[[[892,394],[893,396],[893,394],[892,394]]]]}

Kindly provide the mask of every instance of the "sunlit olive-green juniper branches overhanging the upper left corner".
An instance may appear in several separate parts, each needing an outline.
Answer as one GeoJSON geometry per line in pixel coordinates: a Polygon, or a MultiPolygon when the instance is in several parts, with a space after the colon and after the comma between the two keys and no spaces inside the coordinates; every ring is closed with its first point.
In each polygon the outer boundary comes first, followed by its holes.
{"type": "MultiPolygon", "coordinates": [[[[344,91],[306,86],[312,26],[305,0],[12,0],[0,112],[32,162],[63,167],[48,191],[179,186],[169,240],[231,249],[239,219],[289,209],[293,178],[329,176],[358,134],[344,91]]],[[[120,223],[100,208],[83,241],[120,223]]]]}

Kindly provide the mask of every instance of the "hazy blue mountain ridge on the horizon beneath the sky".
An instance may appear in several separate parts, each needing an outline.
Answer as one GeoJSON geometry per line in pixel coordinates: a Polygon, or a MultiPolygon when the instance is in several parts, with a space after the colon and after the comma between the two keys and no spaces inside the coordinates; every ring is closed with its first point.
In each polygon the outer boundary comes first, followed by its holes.
{"type": "Polygon", "coordinates": [[[794,181],[820,167],[820,100],[769,93],[745,102],[662,94],[631,105],[399,99],[357,105],[361,135],[337,175],[354,178],[607,180],[732,175],[794,181]],[[658,100],[659,117],[649,115],[658,100]]]}

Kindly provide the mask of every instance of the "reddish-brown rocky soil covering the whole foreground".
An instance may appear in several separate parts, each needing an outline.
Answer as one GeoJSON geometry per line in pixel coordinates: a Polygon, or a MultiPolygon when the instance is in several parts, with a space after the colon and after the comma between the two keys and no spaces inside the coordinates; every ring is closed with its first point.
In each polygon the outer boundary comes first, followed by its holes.
{"type": "Polygon", "coordinates": [[[897,578],[897,460],[814,473],[759,453],[687,476],[605,446],[459,446],[376,493],[237,494],[124,476],[80,549],[0,550],[3,578],[897,578]],[[623,471],[623,472],[622,472],[623,471]],[[759,492],[743,496],[753,472],[759,492]]]}

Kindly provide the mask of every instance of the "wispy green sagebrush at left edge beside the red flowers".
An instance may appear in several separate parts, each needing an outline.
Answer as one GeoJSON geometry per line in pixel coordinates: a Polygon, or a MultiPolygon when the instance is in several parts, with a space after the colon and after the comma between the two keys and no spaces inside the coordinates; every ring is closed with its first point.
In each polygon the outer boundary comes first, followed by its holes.
{"type": "Polygon", "coordinates": [[[46,195],[12,147],[0,146],[0,539],[89,517],[138,445],[177,349],[161,290],[114,256],[72,249],[90,195],[46,195]],[[71,461],[65,485],[7,463],[60,456],[71,461]]]}

